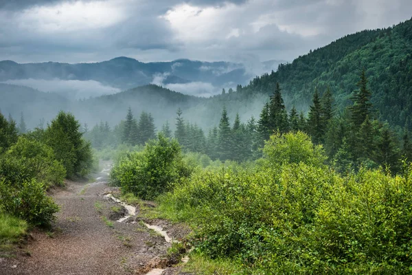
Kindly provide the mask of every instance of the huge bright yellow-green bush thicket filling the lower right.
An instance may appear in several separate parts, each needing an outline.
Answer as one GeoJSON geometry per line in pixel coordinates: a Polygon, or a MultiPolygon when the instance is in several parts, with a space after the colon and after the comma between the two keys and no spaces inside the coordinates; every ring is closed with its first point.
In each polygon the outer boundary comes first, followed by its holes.
{"type": "Polygon", "coordinates": [[[411,272],[412,164],[404,176],[342,177],[305,135],[291,135],[266,144],[275,165],[196,170],[159,197],[161,212],[194,225],[198,252],[248,273],[411,272]]]}

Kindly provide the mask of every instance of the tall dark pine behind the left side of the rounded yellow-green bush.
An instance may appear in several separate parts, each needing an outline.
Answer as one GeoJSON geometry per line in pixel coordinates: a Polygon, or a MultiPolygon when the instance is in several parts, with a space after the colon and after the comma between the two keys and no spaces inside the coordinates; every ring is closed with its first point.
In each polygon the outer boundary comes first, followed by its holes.
{"type": "Polygon", "coordinates": [[[268,108],[268,128],[271,132],[279,130],[281,133],[285,133],[288,131],[288,113],[286,112],[281,91],[279,83],[276,83],[276,89],[273,96],[271,96],[268,108]]]}

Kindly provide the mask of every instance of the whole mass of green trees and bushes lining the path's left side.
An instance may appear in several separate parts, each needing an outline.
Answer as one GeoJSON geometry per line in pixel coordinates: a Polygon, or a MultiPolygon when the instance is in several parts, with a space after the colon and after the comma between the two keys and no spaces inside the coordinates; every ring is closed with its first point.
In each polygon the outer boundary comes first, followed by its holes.
{"type": "Polygon", "coordinates": [[[61,111],[46,129],[19,133],[22,125],[19,129],[11,117],[7,120],[0,113],[0,219],[10,230],[0,244],[9,241],[15,219],[49,224],[58,206],[46,190],[62,186],[66,177],[85,177],[95,168],[91,145],[71,113],[61,111]]]}

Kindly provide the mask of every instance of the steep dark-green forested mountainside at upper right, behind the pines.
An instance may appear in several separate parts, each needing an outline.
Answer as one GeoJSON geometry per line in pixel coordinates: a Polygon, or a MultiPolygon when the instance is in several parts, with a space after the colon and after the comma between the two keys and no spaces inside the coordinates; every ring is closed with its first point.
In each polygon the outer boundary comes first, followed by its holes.
{"type": "Polygon", "coordinates": [[[288,108],[307,110],[314,88],[323,92],[330,86],[337,107],[348,104],[356,89],[358,75],[365,68],[372,102],[381,120],[403,126],[412,110],[412,21],[393,28],[365,30],[351,34],[279,65],[277,72],[251,80],[233,97],[272,94],[276,83],[283,88],[288,108]]]}

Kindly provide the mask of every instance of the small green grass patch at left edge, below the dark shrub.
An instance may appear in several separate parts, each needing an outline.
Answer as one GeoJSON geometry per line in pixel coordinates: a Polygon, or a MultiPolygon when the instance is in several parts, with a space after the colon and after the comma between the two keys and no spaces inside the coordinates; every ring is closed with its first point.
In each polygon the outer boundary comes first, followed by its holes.
{"type": "Polygon", "coordinates": [[[7,256],[27,233],[28,225],[25,221],[0,212],[0,256],[7,256]],[[4,254],[5,253],[5,254],[4,254]]]}

